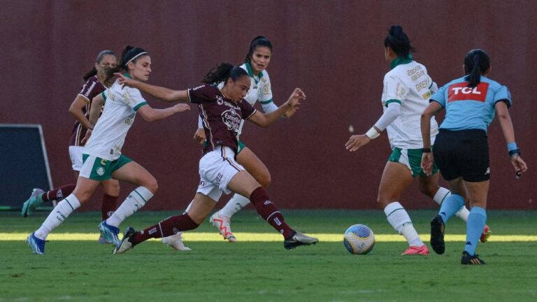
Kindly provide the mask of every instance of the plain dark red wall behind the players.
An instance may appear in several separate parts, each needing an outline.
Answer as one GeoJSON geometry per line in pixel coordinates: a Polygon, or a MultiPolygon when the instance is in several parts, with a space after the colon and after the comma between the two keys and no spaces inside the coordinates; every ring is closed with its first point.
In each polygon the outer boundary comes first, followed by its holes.
{"type": "MultiPolygon", "coordinates": [[[[268,68],[276,103],[294,87],[308,100],[269,129],[253,124],[243,140],[271,171],[281,208],[375,208],[389,154],[385,136],[350,154],[349,125],[363,133],[382,113],[382,43],[401,24],[415,59],[439,83],[461,75],[472,48],[492,57],[492,78],[508,85],[517,143],[530,171],[515,180],[498,122],[489,129],[490,208],[535,209],[536,1],[0,1],[1,123],[43,125],[55,185],[73,181],[68,108],[99,50],[127,44],[148,50],[150,82],[176,89],[199,84],[217,62],[242,62],[252,37],[274,45],[268,68]]],[[[150,99],[152,106],[166,104],[150,99]]],[[[124,153],[159,180],[146,209],[181,209],[198,183],[200,148],[192,141],[196,108],[169,120],[138,119],[124,153]]],[[[6,143],[6,142],[1,142],[6,143]]],[[[0,155],[1,156],[1,155],[0,155]]],[[[4,172],[4,171],[3,171],[4,172]]],[[[131,189],[123,185],[122,196],[131,189]]],[[[96,202],[85,206],[96,209],[96,202]]],[[[435,208],[413,185],[408,208],[435,208]]],[[[222,205],[220,205],[222,206],[222,205]]]]}

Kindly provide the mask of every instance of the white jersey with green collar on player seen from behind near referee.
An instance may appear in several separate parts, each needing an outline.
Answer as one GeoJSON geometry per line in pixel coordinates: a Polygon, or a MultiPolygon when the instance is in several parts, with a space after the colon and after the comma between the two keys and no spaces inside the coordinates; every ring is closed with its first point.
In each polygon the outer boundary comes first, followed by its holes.
{"type": "MultiPolygon", "coordinates": [[[[429,106],[431,89],[436,90],[427,69],[409,58],[397,58],[392,62],[392,70],[384,76],[382,108],[392,102],[401,104],[401,113],[386,128],[389,144],[393,148],[423,148],[421,115],[429,106]]],[[[431,143],[438,134],[438,124],[431,117],[431,143]]]]}

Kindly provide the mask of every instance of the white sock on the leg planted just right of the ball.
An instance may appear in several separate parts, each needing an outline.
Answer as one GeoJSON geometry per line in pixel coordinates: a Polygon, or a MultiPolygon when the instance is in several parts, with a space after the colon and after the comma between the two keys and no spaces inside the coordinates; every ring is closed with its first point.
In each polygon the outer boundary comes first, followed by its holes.
{"type": "Polygon", "coordinates": [[[403,235],[410,246],[422,246],[424,245],[417,231],[414,229],[410,216],[406,212],[405,208],[401,206],[401,203],[394,201],[389,203],[384,208],[384,213],[388,219],[389,224],[397,231],[397,233],[403,235]]]}

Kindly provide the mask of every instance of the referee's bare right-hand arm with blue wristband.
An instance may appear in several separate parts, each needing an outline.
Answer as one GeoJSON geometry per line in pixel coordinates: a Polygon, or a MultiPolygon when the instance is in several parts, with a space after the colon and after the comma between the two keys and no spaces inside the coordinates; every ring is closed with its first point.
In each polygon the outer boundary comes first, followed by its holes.
{"type": "Polygon", "coordinates": [[[496,108],[496,114],[498,115],[503,137],[506,138],[511,164],[513,165],[513,168],[515,168],[518,177],[527,171],[528,166],[522,157],[520,157],[520,149],[515,143],[515,129],[513,129],[513,122],[511,121],[507,104],[503,101],[499,101],[494,105],[494,108],[496,108]]]}

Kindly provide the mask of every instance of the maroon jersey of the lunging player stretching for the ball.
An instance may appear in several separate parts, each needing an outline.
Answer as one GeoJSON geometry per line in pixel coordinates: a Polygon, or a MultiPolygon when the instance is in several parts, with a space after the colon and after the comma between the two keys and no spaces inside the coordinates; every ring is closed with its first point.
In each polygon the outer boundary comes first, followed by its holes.
{"type": "Polygon", "coordinates": [[[239,103],[227,99],[220,89],[211,85],[189,88],[187,92],[189,101],[199,106],[207,139],[203,154],[213,151],[217,145],[227,146],[237,152],[237,134],[241,120],[248,120],[257,110],[244,99],[239,103]]]}

